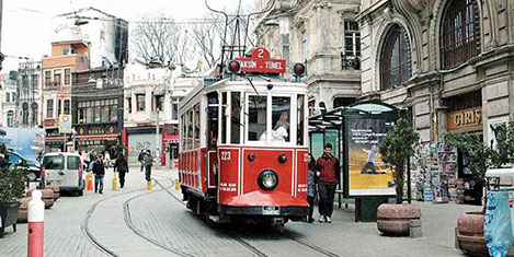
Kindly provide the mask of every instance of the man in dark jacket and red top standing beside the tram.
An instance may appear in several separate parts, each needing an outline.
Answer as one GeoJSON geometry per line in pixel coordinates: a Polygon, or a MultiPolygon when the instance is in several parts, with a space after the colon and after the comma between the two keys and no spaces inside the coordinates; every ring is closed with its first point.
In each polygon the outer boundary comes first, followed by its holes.
{"type": "Polygon", "coordinates": [[[340,179],[339,160],[332,155],[332,144],[324,144],[323,155],[318,159],[319,172],[319,222],[332,223],[335,188],[340,179]]]}

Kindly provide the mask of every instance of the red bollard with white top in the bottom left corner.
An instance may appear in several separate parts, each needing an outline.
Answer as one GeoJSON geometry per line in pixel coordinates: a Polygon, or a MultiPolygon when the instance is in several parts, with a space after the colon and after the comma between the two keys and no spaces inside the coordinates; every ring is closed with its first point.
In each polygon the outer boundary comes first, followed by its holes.
{"type": "Polygon", "coordinates": [[[28,257],[43,256],[45,202],[41,197],[41,190],[34,190],[28,202],[28,257]]]}

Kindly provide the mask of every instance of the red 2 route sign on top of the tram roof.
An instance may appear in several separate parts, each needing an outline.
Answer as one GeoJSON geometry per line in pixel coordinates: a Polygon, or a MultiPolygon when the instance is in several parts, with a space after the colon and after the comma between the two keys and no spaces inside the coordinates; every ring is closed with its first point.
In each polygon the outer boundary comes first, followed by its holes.
{"type": "Polygon", "coordinates": [[[252,52],[251,58],[236,58],[241,63],[241,71],[245,72],[265,72],[284,73],[286,72],[286,60],[270,59],[270,51],[266,48],[259,47],[252,52]]]}

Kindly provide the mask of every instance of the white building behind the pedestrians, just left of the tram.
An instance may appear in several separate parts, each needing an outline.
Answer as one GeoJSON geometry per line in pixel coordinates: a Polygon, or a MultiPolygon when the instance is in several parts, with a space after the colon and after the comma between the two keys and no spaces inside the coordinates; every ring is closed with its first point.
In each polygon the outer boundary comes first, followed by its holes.
{"type": "Polygon", "coordinates": [[[136,61],[127,63],[124,77],[124,130],[128,161],[135,164],[141,150],[150,150],[152,154],[159,151],[164,165],[164,160],[178,157],[164,157],[163,150],[169,148],[168,152],[172,152],[169,144],[178,143],[179,102],[202,83],[202,78],[185,78],[182,67],[148,69],[136,61]],[[159,136],[156,136],[157,120],[159,136]]]}

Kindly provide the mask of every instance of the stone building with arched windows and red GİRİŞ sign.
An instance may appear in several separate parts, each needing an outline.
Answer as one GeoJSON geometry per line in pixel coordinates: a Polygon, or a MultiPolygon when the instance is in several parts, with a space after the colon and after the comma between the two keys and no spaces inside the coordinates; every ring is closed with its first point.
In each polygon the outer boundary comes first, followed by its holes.
{"type": "Polygon", "coordinates": [[[363,0],[362,98],[408,108],[423,142],[514,120],[514,2],[363,0]]]}

